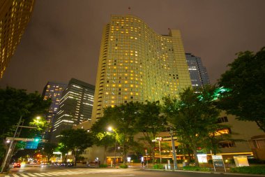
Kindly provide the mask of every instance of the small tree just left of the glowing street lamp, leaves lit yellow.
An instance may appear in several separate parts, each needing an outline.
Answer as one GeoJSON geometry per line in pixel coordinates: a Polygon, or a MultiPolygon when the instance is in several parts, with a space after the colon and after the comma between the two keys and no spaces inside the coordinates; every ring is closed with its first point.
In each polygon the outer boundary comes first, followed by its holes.
{"type": "Polygon", "coordinates": [[[109,121],[107,118],[101,118],[91,127],[93,143],[96,146],[104,147],[104,164],[107,163],[107,148],[116,143],[115,134],[107,132],[107,127],[109,127],[109,121]]]}

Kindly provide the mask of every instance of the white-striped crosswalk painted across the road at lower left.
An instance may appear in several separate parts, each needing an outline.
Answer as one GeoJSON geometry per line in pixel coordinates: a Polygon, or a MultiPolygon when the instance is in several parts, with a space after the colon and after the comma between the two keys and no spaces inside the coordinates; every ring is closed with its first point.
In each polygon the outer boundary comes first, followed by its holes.
{"type": "MultiPolygon", "coordinates": [[[[123,171],[123,170],[121,170],[123,171]]],[[[120,172],[121,172],[120,171],[120,172]]],[[[82,170],[82,171],[56,171],[56,172],[41,172],[41,173],[25,173],[25,174],[9,174],[5,177],[39,177],[39,176],[65,176],[65,175],[78,175],[78,174],[99,174],[99,173],[114,173],[112,169],[100,169],[100,170],[82,170]]]]}

